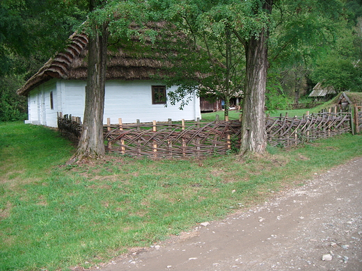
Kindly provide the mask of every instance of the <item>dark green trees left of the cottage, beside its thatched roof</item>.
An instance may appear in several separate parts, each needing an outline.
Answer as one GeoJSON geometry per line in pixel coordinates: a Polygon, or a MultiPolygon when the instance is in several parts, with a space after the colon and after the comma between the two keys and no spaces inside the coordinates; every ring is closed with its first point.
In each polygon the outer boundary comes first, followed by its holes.
{"type": "Polygon", "coordinates": [[[74,0],[0,1],[0,121],[26,119],[17,88],[63,49],[86,19],[86,7],[74,0]]]}

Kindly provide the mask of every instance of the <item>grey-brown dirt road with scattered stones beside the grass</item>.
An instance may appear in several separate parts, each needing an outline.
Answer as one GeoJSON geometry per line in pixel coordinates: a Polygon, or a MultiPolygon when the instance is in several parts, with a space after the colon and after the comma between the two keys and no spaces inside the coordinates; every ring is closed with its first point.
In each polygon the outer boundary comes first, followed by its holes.
{"type": "Polygon", "coordinates": [[[98,270],[362,270],[362,158],[98,270]]]}

